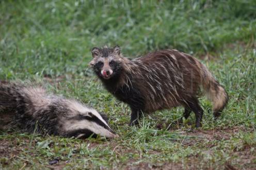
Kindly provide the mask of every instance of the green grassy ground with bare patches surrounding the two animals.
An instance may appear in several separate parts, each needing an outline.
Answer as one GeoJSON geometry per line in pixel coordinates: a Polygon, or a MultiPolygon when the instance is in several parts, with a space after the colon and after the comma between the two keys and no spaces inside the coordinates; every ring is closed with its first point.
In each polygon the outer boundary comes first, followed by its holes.
{"type": "Polygon", "coordinates": [[[253,0],[0,1],[0,80],[43,83],[83,101],[105,112],[120,135],[105,141],[1,132],[0,169],[255,169],[255,11],[253,0]],[[88,66],[90,49],[105,44],[131,58],[163,48],[194,55],[227,89],[227,108],[214,122],[202,97],[202,128],[194,115],[177,126],[182,108],[129,127],[129,107],[88,66]]]}

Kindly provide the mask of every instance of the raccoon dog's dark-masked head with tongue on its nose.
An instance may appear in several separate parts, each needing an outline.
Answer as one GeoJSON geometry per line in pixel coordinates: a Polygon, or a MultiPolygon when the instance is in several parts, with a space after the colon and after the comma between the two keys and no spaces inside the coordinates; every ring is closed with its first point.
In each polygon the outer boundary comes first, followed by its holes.
{"type": "Polygon", "coordinates": [[[120,47],[117,45],[114,48],[94,47],[91,50],[92,66],[94,72],[105,80],[117,77],[122,70],[122,59],[120,54],[120,47]]]}

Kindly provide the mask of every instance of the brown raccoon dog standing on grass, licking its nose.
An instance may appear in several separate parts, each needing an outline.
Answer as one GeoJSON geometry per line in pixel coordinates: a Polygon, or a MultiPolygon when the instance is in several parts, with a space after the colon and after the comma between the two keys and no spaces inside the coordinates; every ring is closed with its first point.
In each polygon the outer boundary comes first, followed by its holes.
{"type": "Polygon", "coordinates": [[[184,117],[195,112],[196,127],[200,127],[200,87],[212,101],[215,117],[227,104],[225,89],[209,70],[178,50],[158,50],[133,60],[123,57],[119,46],[94,47],[91,52],[90,65],[105,88],[131,107],[131,124],[137,123],[142,113],[183,106],[184,117]]]}

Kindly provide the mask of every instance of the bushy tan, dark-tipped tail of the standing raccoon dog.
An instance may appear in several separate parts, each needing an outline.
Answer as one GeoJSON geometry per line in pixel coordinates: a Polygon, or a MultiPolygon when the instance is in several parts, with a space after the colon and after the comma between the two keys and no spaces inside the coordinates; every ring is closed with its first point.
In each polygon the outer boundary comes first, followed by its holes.
{"type": "Polygon", "coordinates": [[[228,103],[229,97],[226,90],[213,77],[210,71],[202,65],[202,87],[206,96],[213,103],[214,116],[217,118],[228,103]]]}

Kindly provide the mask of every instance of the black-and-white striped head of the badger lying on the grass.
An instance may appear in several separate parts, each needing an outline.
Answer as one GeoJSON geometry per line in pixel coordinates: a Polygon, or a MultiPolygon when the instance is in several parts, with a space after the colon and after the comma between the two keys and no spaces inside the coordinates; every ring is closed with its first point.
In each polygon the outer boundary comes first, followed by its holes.
{"type": "Polygon", "coordinates": [[[118,135],[109,127],[107,116],[95,109],[87,108],[77,102],[69,102],[70,112],[63,120],[65,136],[75,138],[93,138],[100,135],[106,138],[117,138],[118,135]]]}

